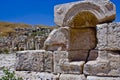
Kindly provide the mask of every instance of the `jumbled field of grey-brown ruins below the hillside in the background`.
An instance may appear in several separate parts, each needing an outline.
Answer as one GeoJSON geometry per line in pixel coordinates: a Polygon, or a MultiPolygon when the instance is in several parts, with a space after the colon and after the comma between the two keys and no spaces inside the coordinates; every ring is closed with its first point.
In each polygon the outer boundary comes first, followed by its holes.
{"type": "Polygon", "coordinates": [[[0,36],[0,53],[14,53],[21,50],[39,50],[52,28],[15,28],[16,34],[0,36]]]}

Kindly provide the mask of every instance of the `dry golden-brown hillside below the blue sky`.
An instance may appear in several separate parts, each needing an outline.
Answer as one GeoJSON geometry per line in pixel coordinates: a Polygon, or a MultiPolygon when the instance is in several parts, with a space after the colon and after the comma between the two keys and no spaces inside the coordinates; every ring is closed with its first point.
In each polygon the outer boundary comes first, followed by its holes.
{"type": "MultiPolygon", "coordinates": [[[[38,28],[57,28],[53,26],[44,26],[44,25],[35,25],[34,27],[38,28]]],[[[14,33],[15,28],[32,28],[32,25],[24,23],[9,23],[9,22],[0,22],[0,36],[7,36],[9,33],[14,33]]]]}

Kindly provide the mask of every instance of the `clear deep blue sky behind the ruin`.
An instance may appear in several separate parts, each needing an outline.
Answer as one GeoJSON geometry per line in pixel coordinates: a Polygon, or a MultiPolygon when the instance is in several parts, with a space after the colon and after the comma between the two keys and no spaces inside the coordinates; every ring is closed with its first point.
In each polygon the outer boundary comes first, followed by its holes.
{"type": "MultiPolygon", "coordinates": [[[[78,0],[0,0],[0,22],[54,26],[54,6],[78,0]]],[[[120,0],[116,4],[115,22],[120,22],[120,0]]]]}

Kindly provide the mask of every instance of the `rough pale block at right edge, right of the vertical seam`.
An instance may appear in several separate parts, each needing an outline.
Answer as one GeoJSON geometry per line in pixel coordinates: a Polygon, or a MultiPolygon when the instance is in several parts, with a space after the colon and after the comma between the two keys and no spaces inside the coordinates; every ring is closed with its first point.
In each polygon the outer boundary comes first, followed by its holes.
{"type": "Polygon", "coordinates": [[[108,25],[108,50],[120,50],[120,23],[108,25]]]}

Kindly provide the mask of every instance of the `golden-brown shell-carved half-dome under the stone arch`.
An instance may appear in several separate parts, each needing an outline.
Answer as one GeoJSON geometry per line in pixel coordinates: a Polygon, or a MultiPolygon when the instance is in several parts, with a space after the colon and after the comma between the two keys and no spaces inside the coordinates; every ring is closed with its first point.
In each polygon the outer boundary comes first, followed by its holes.
{"type": "Polygon", "coordinates": [[[83,11],[78,13],[71,21],[70,26],[72,28],[82,27],[95,27],[98,20],[94,14],[89,11],[83,11]]]}

